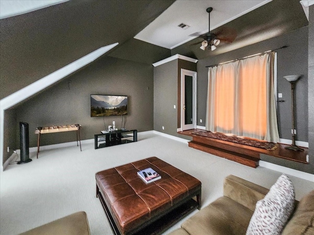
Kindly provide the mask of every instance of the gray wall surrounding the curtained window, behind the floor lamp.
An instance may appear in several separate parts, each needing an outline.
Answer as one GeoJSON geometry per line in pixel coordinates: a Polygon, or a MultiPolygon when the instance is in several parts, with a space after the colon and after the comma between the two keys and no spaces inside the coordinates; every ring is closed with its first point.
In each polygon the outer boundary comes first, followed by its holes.
{"type": "Polygon", "coordinates": [[[206,119],[206,96],[208,86],[208,68],[221,62],[241,58],[270,49],[287,45],[288,48],[277,50],[277,85],[278,93],[283,94],[285,102],[278,103],[279,135],[282,139],[291,140],[291,90],[285,75],[302,74],[295,90],[296,97],[296,130],[298,141],[308,141],[308,27],[243,47],[234,51],[208,57],[197,63],[197,119],[206,119]]]}

